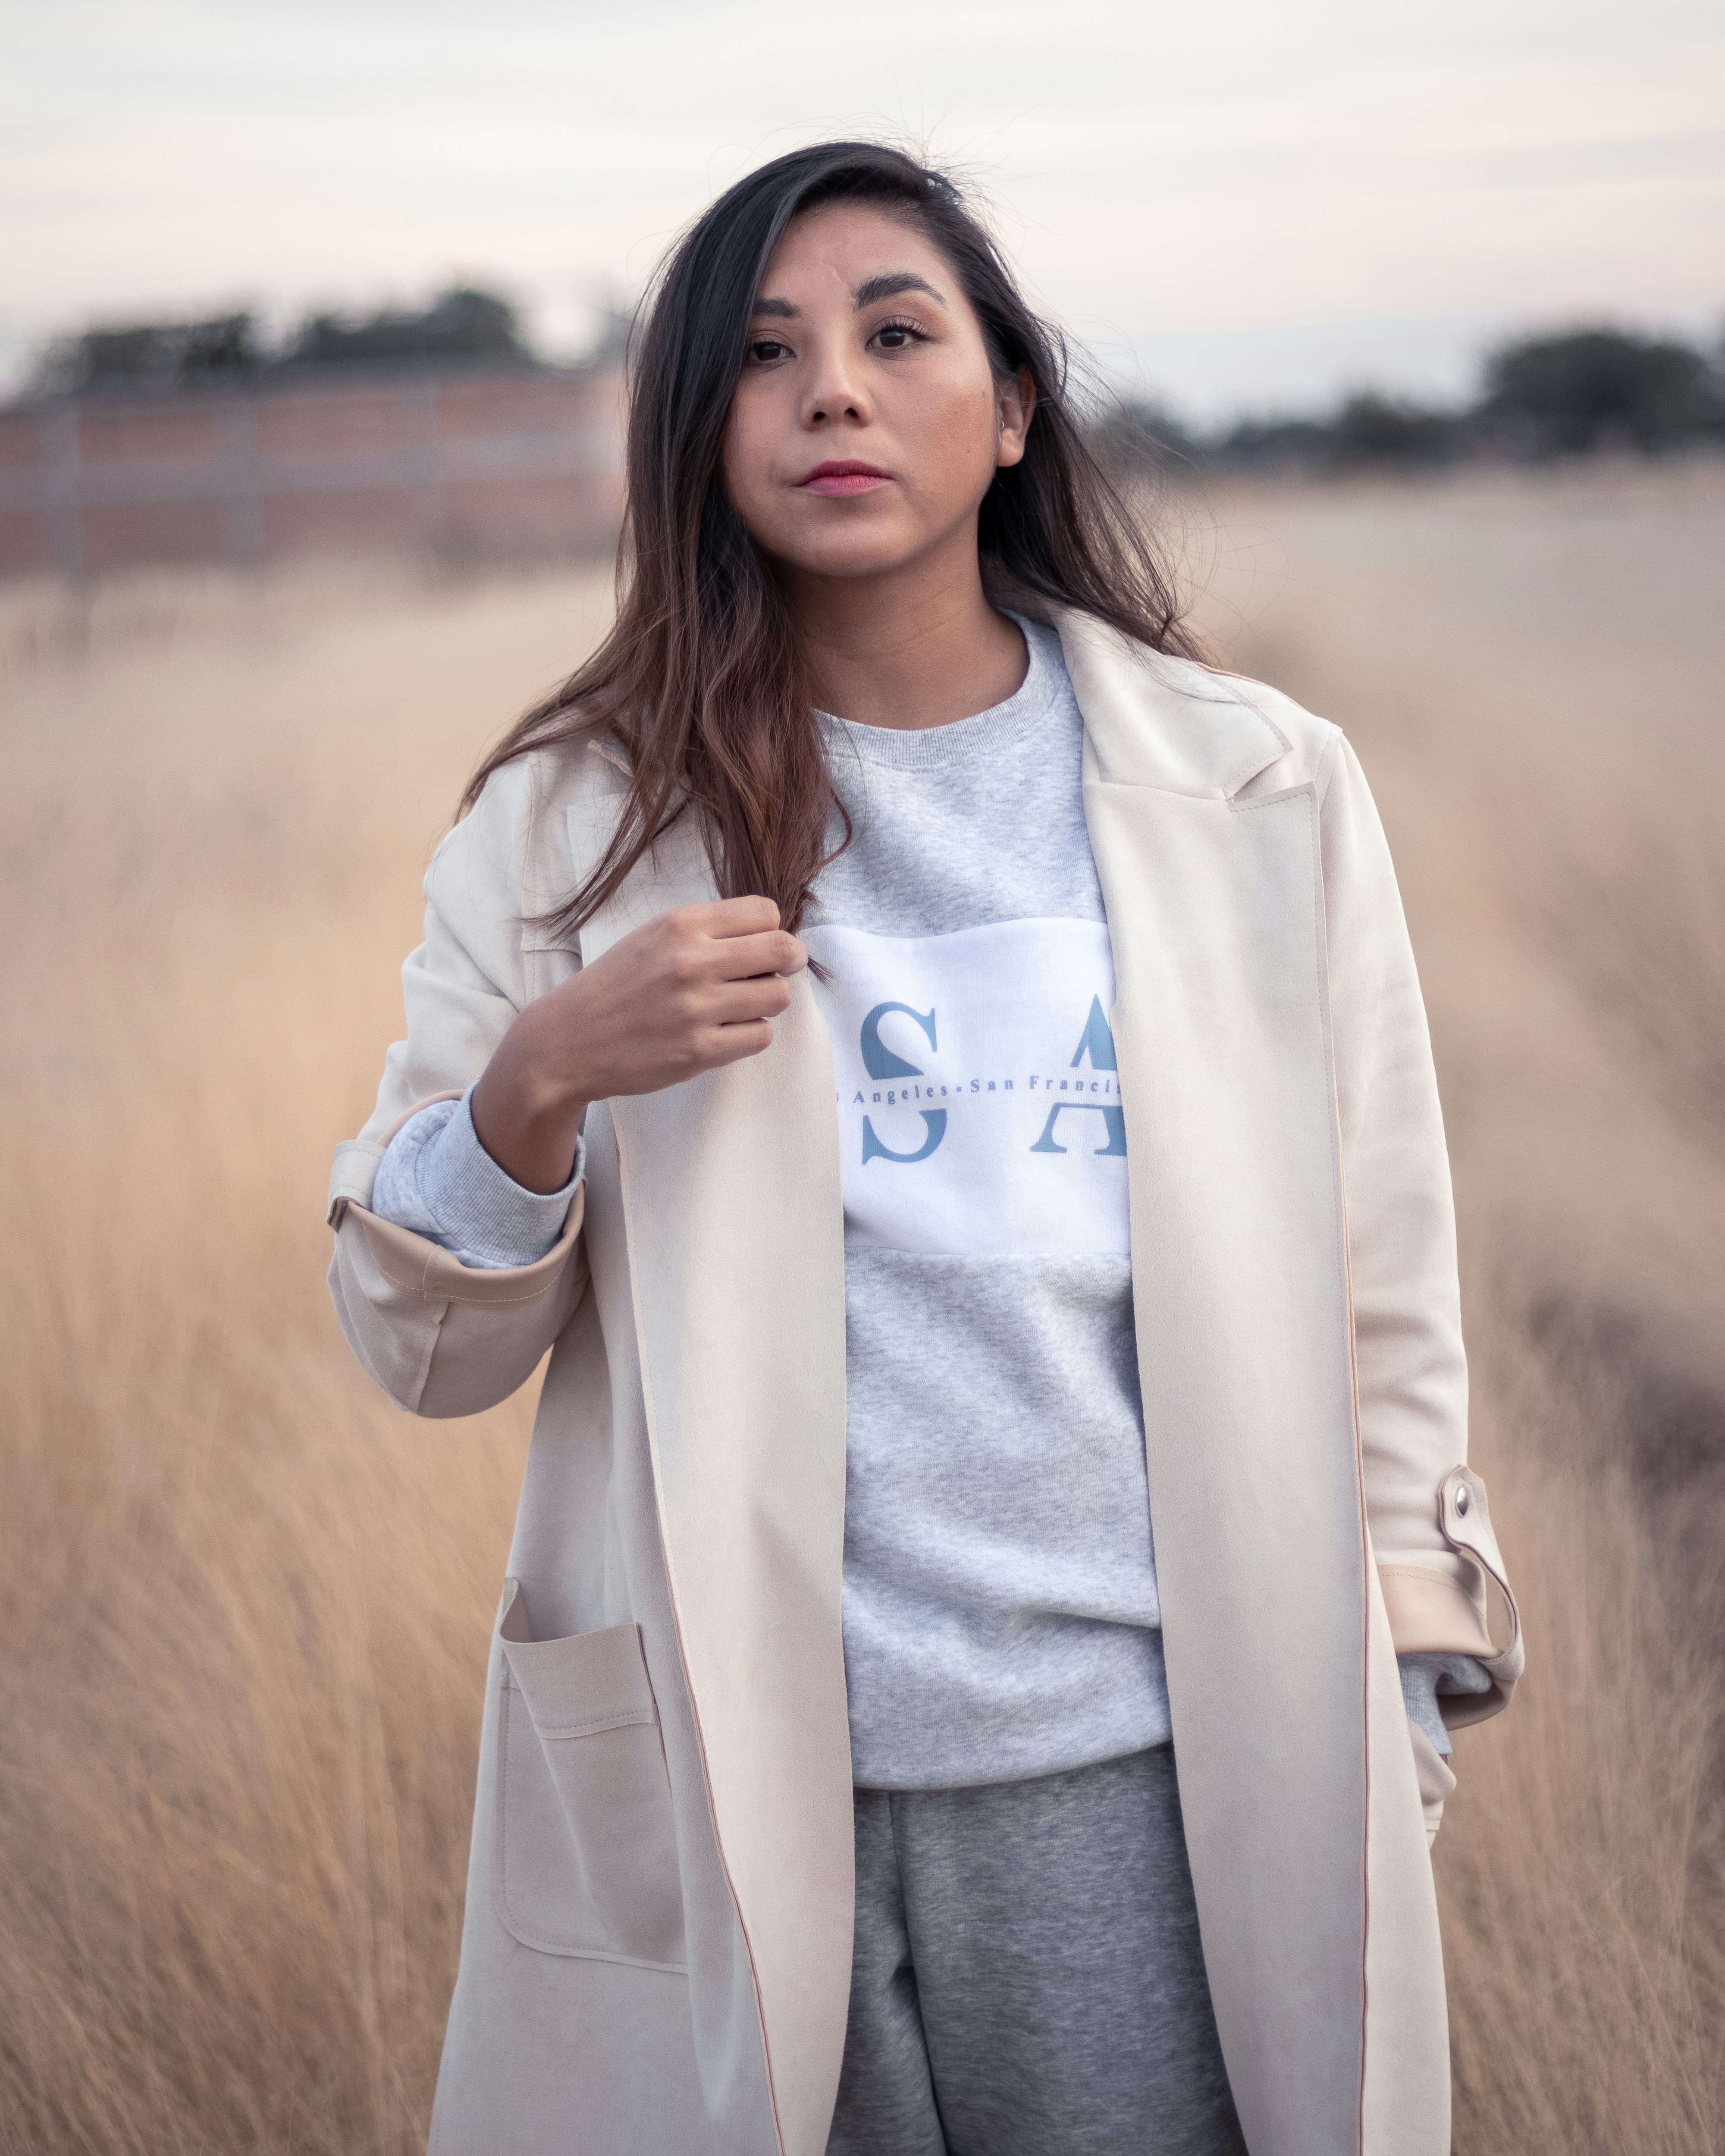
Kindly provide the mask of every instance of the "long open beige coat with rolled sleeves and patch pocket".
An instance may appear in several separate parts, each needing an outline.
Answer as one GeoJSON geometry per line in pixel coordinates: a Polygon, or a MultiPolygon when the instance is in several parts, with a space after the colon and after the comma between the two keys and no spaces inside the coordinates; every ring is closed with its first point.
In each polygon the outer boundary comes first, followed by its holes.
{"type": "MultiPolygon", "coordinates": [[[[1395,1651],[1520,1671],[1479,1481],[1425,1015],[1371,796],[1274,690],[1057,623],[1115,949],[1175,1757],[1253,2156],[1449,2147],[1443,1962],[1395,1651]],[[1486,1570],[1481,1570],[1486,1567],[1486,1570]]],[[[358,1358],[472,1414],[552,1348],[485,1690],[436,2156],[819,2156],[845,2037],[845,1279],[832,1059],[591,1110],[567,1231],[472,1272],[367,1212],[390,1130],[580,959],[522,923],[615,750],[498,772],[427,877],[408,1039],[336,1153],[358,1358]]],[[[580,936],[714,897],[690,821],[580,936]]],[[[1417,1757],[1419,1753],[1419,1757],[1417,1757]]],[[[1421,1789],[1423,1781],[1423,1789],[1421,1789]]],[[[1050,2152],[1057,2156],[1057,2152],[1050,2152]]]]}

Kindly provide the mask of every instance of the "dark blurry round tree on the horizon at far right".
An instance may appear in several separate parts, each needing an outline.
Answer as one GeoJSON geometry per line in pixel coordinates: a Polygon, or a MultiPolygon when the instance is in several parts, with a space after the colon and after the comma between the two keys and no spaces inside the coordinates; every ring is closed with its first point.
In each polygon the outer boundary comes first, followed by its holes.
{"type": "Polygon", "coordinates": [[[1574,330],[1503,345],[1486,362],[1475,429],[1512,455],[1673,448],[1714,418],[1708,362],[1673,341],[1574,330]]]}

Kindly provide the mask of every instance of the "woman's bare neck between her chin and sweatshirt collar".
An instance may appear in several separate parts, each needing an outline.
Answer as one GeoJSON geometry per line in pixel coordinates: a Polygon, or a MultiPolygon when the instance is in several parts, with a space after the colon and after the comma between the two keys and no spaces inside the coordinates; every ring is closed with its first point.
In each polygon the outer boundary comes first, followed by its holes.
{"type": "Polygon", "coordinates": [[[944,558],[882,576],[787,578],[824,711],[914,733],[988,711],[1022,686],[1024,638],[988,604],[975,530],[962,539],[944,558]]]}

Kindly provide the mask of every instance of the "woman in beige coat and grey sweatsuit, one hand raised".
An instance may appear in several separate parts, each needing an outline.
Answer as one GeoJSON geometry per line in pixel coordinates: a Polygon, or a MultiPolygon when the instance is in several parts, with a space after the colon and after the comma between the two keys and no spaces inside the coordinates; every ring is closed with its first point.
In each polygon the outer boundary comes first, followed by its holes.
{"type": "Polygon", "coordinates": [[[1352,752],[897,151],[673,250],[625,563],[332,1186],[403,1408],[552,1350],[433,2150],[1436,2156],[1520,1647],[1352,752]]]}

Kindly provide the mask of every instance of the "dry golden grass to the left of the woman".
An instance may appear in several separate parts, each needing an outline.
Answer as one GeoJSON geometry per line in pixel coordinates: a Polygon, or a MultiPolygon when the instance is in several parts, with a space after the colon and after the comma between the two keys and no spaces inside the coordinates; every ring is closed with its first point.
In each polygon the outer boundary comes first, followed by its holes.
{"type": "Polygon", "coordinates": [[[321,1190],[423,858],[584,597],[332,567],[13,602],[6,2150],[423,2145],[528,1410],[371,1393],[321,1190]]]}

